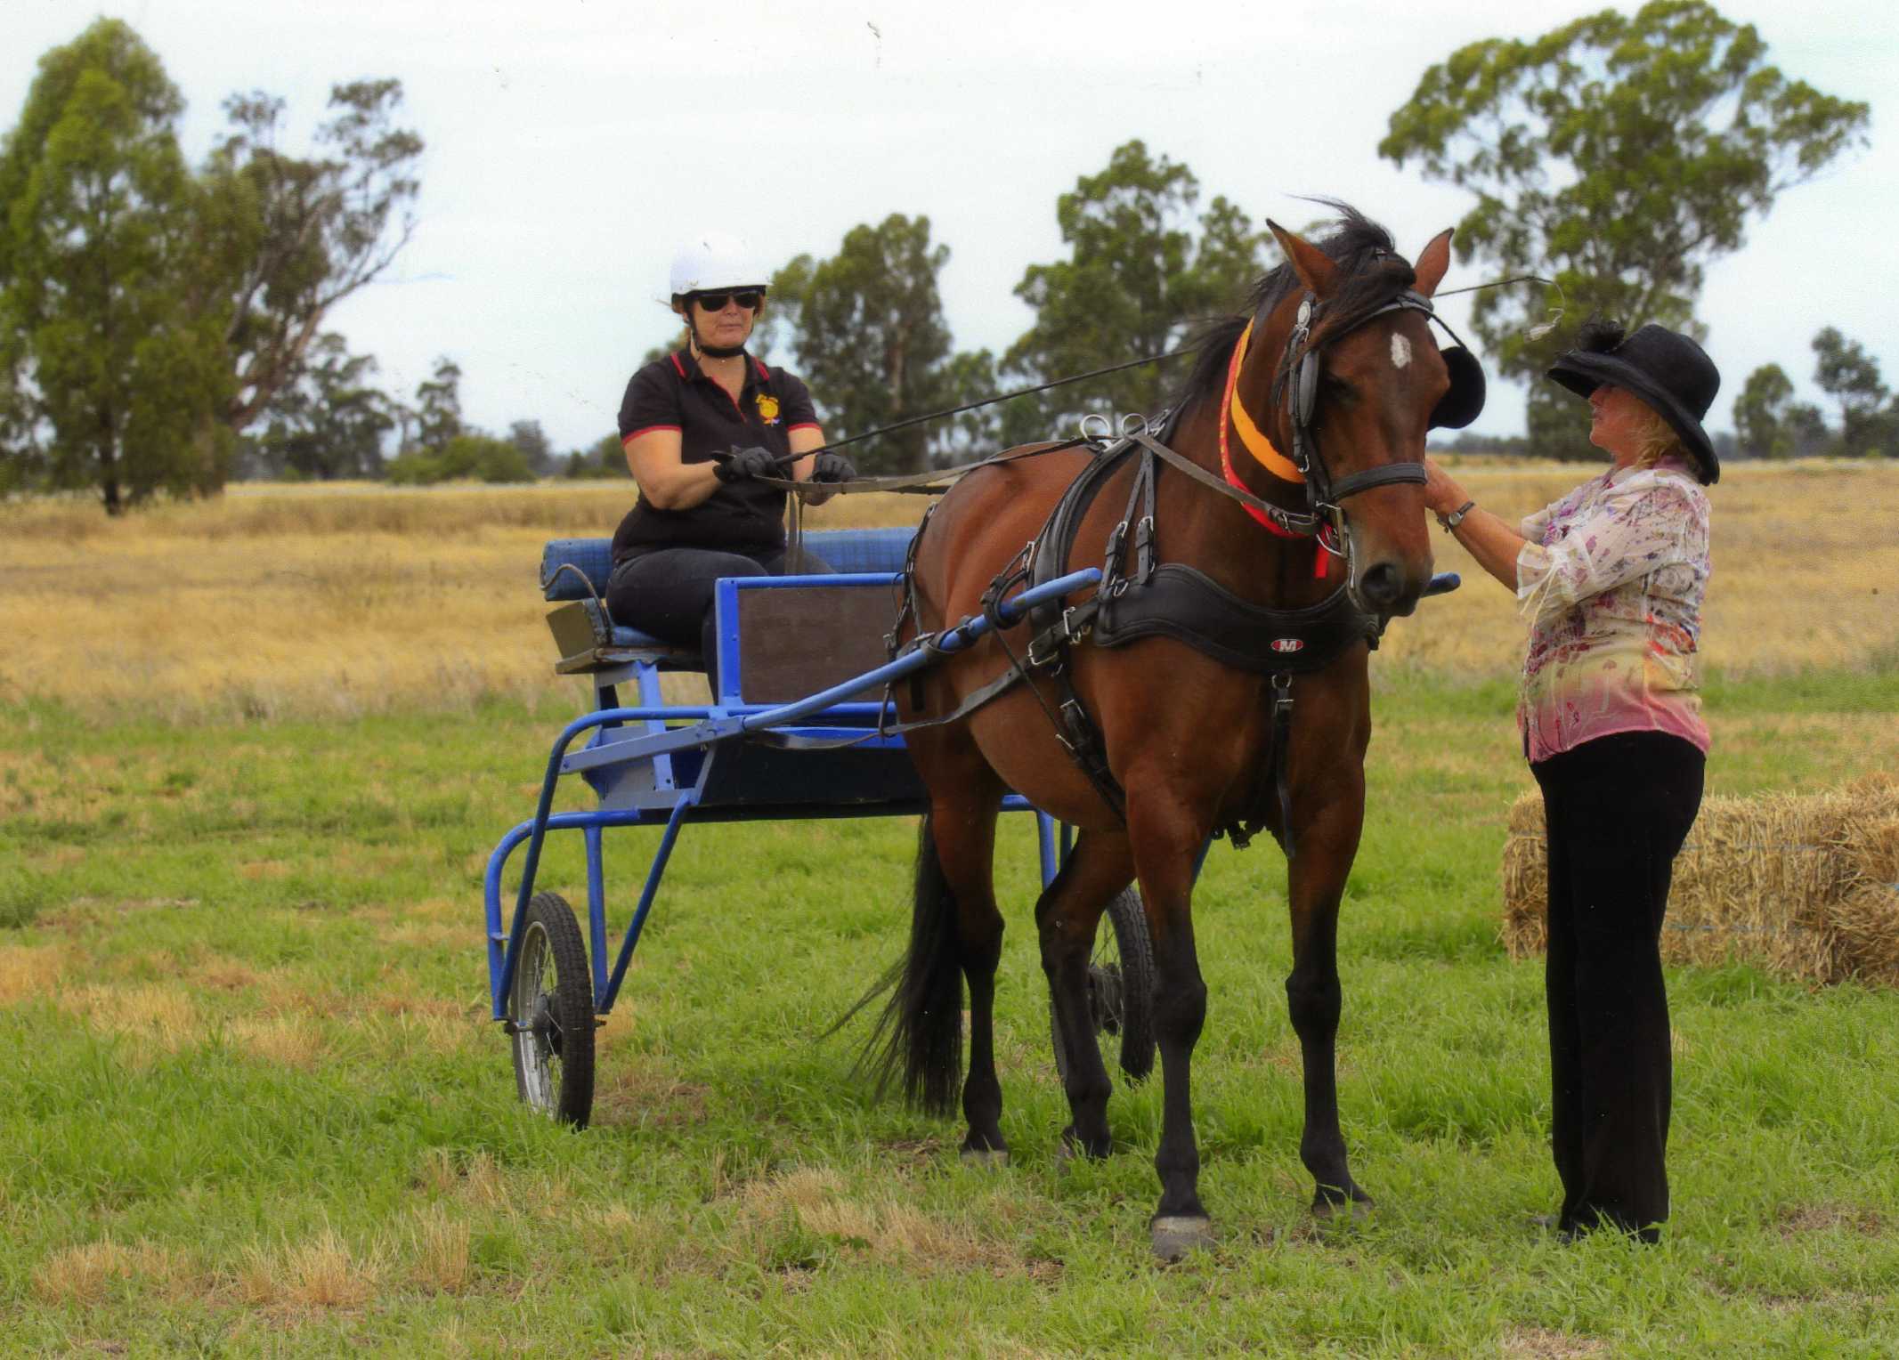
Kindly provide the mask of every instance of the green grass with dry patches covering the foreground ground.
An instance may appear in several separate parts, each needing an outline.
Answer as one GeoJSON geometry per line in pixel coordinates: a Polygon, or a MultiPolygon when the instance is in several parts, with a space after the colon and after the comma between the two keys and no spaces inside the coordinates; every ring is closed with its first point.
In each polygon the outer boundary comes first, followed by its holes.
{"type": "MultiPolygon", "coordinates": [[[[1890,764],[1893,710],[1891,678],[1715,684],[1711,792],[1890,764]]],[[[1158,1083],[1117,1090],[1122,1153],[1054,1157],[1027,819],[1001,866],[1012,1166],[963,1168],[959,1123],[870,1100],[851,1035],[817,1039],[902,944],[898,821],[691,828],[575,1136],[517,1104],[480,952],[555,714],[4,710],[0,1349],[1891,1354],[1899,995],[1671,973],[1664,1244],[1529,1225],[1555,1178],[1540,967],[1496,942],[1529,786],[1508,714],[1500,686],[1379,697],[1341,927],[1362,1225],[1305,1214],[1282,860],[1215,849],[1194,1100],[1221,1246],[1162,1269],[1158,1083]]],[[[610,836],[615,923],[653,840],[610,836]]],[[[583,897],[577,838],[541,883],[583,897]]]]}

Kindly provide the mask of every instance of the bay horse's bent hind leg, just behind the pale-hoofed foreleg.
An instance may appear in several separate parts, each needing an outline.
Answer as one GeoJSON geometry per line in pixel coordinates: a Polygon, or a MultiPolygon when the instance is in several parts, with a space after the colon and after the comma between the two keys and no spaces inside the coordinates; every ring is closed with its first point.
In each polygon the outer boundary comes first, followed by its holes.
{"type": "Polygon", "coordinates": [[[1084,1157],[1107,1157],[1107,1066],[1094,1039],[1088,1007],[1088,952],[1101,921],[1101,908],[1134,878],[1124,836],[1082,832],[1041,898],[1035,925],[1041,933],[1043,973],[1056,1012],[1062,1045],[1062,1088],[1069,1098],[1069,1126],[1062,1140],[1084,1157]]]}

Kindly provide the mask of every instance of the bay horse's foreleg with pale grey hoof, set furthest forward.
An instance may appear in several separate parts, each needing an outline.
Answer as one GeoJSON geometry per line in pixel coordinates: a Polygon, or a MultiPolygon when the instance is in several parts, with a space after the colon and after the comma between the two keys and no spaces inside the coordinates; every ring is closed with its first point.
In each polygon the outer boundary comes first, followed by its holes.
{"type": "MultiPolygon", "coordinates": [[[[1136,783],[1134,786],[1139,786],[1136,783]]],[[[1177,1259],[1213,1240],[1200,1204],[1200,1149],[1193,1132],[1193,1048],[1206,1022],[1206,982],[1193,942],[1193,868],[1206,838],[1185,800],[1156,794],[1130,802],[1128,840],[1155,944],[1155,1039],[1160,1048],[1160,1204],[1151,1223],[1155,1254],[1177,1259]]]]}

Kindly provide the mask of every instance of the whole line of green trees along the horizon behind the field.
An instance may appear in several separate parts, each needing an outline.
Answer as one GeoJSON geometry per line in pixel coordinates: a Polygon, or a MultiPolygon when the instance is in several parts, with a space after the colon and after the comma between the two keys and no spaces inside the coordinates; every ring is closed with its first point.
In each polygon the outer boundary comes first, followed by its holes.
{"type": "MultiPolygon", "coordinates": [[[[177,142],[184,101],[127,25],[99,19],[47,51],[0,146],[0,492],[97,486],[116,513],[234,475],[623,471],[606,429],[555,452],[534,418],[505,435],[465,425],[452,357],[391,395],[376,359],[325,329],[414,226],[422,137],[395,123],[401,99],[395,80],[340,84],[311,150],[289,154],[283,101],[232,95],[224,141],[192,167],[177,142]]],[[[1493,380],[1527,384],[1527,431],[1470,446],[1593,458],[1582,403],[1538,382],[1574,325],[1702,332],[1707,266],[1783,190],[1865,144],[1867,127],[1867,104],[1783,76],[1753,27],[1703,0],[1605,9],[1428,66],[1377,156],[1472,194],[1457,224],[1470,281],[1553,279],[1476,294],[1470,331],[1493,380]],[[1550,329],[1557,304],[1565,325],[1550,329]]],[[[758,348],[805,378],[828,435],[853,437],[1177,349],[1242,310],[1274,264],[1255,215],[1217,194],[1202,207],[1194,173],[1139,141],[1058,194],[1054,213],[1063,255],[1024,270],[1014,294],[1031,321],[1001,353],[955,346],[938,293],[950,247],[904,213],[779,270],[758,348]]],[[[1834,422],[1766,365],[1743,384],[1732,452],[1899,452],[1878,363],[1831,327],[1812,348],[1834,422]]],[[[868,441],[853,458],[866,473],[961,460],[1088,412],[1153,412],[1181,378],[1179,363],[1130,368],[868,441]]]]}

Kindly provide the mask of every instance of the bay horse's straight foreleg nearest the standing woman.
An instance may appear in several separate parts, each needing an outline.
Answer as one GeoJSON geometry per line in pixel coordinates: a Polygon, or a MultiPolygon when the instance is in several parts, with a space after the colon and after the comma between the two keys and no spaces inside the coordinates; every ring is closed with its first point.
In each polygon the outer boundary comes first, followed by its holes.
{"type": "Polygon", "coordinates": [[[1365,811],[1363,783],[1335,790],[1308,819],[1301,819],[1299,811],[1295,805],[1297,853],[1288,866],[1293,971],[1286,978],[1286,1003],[1305,1066],[1305,1134],[1299,1138],[1299,1159],[1316,1181],[1312,1212],[1327,1216],[1341,1206],[1371,1202],[1346,1168],[1335,1054],[1343,1007],[1339,898],[1358,853],[1365,811]]]}

